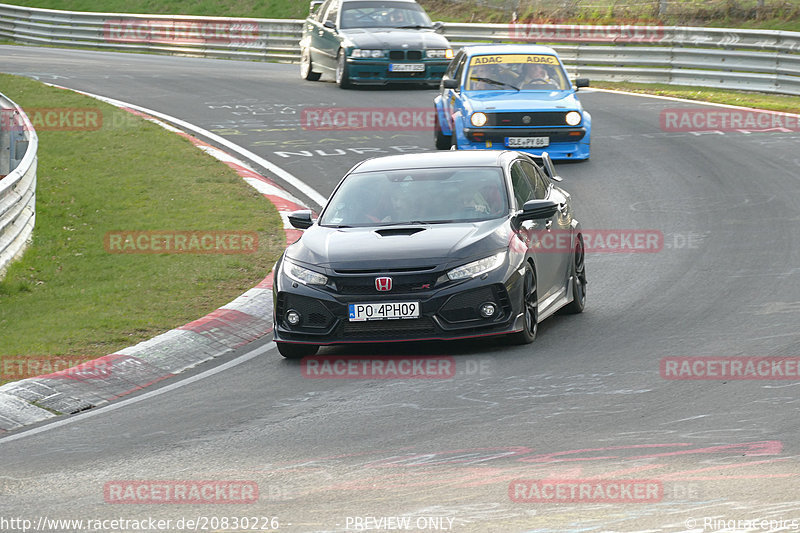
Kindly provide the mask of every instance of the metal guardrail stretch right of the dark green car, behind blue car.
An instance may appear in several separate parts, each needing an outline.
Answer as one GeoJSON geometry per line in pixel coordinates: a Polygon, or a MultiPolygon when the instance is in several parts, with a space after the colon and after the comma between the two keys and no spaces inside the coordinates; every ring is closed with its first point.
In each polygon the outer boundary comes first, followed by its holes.
{"type": "Polygon", "coordinates": [[[800,32],[680,26],[447,24],[454,46],[547,44],[575,76],[800,95],[800,32]],[[564,44],[567,43],[567,44],[564,44]]]}

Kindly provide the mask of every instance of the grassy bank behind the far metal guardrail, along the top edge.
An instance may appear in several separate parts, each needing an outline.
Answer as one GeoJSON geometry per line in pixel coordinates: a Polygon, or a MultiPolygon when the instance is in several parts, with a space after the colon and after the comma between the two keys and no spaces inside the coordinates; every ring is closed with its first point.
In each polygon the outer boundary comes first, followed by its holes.
{"type": "MultiPolygon", "coordinates": [[[[507,0],[419,0],[434,20],[447,22],[511,21],[507,0]]],[[[221,17],[302,19],[308,14],[306,0],[12,0],[12,4],[112,13],[206,15],[221,17]]],[[[668,0],[659,14],[659,0],[520,0],[517,16],[524,22],[563,24],[664,24],[716,27],[782,29],[800,31],[800,5],[785,0],[668,0]]]]}

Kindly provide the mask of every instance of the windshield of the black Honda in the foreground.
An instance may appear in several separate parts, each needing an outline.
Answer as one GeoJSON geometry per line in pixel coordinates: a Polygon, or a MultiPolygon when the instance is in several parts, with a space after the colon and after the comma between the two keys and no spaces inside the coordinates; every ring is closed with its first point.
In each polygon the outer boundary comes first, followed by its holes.
{"type": "Polygon", "coordinates": [[[477,222],[508,212],[502,170],[412,169],[351,174],[320,217],[322,226],[477,222]]]}

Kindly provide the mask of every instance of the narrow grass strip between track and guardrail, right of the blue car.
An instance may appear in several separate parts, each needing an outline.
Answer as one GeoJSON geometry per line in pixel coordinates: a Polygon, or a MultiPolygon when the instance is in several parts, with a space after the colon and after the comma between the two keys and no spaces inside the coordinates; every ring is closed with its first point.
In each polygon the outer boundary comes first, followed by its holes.
{"type": "Polygon", "coordinates": [[[592,87],[599,89],[615,89],[642,94],[655,94],[659,96],[674,96],[687,100],[702,102],[715,102],[719,104],[752,107],[755,109],[769,109],[772,111],[785,111],[800,113],[800,96],[787,96],[780,94],[765,94],[749,91],[732,91],[721,89],[705,89],[702,87],[689,87],[685,85],[665,85],[657,83],[631,83],[631,82],[604,82],[592,80],[592,87]]]}

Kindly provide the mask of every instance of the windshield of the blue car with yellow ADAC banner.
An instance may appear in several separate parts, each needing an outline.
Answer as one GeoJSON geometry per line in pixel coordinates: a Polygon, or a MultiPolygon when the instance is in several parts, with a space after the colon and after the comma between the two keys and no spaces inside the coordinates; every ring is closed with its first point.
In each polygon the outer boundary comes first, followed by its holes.
{"type": "Polygon", "coordinates": [[[467,71],[468,91],[565,91],[570,87],[564,69],[552,55],[474,56],[467,71]]]}

